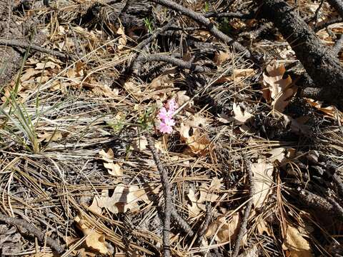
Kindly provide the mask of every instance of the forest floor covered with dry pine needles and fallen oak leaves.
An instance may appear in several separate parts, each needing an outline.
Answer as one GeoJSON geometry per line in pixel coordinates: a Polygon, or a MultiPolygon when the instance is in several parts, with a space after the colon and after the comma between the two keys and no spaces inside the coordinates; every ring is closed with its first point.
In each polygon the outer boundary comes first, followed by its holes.
{"type": "MultiPolygon", "coordinates": [[[[304,68],[272,24],[208,19],[257,63],[149,1],[44,2],[13,15],[38,20],[50,52],[19,44],[0,85],[1,256],[163,256],[166,234],[172,256],[341,256],[343,114],[298,94],[304,68]]],[[[314,28],[338,16],[287,2],[314,28]]],[[[343,23],[316,33],[332,47],[343,23]]]]}

